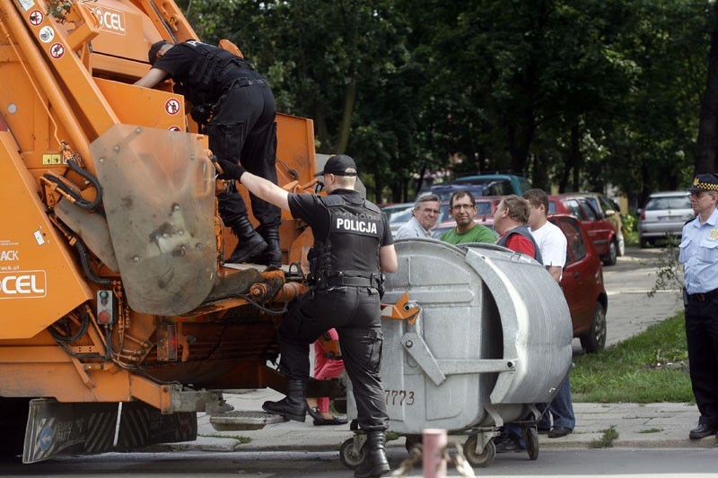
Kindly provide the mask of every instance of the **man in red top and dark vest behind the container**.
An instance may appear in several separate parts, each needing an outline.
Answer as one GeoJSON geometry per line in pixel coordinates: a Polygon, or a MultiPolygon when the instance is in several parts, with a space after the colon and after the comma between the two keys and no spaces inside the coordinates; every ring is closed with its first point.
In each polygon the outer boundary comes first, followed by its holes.
{"type": "Polygon", "coordinates": [[[529,202],[523,197],[504,197],[494,213],[494,229],[500,236],[496,244],[541,262],[541,251],[527,225],[529,213],[529,202]]]}

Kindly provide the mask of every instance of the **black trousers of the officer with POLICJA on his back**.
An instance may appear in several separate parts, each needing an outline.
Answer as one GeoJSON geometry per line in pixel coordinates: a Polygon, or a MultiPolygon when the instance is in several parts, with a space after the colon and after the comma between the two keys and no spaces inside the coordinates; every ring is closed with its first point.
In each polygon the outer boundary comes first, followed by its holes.
{"type": "Polygon", "coordinates": [[[310,344],[330,328],[339,335],[346,374],[352,381],[359,427],[384,431],[389,415],[381,387],[379,292],[367,287],[334,287],[295,300],[279,327],[280,367],[287,378],[307,381],[310,344]]]}

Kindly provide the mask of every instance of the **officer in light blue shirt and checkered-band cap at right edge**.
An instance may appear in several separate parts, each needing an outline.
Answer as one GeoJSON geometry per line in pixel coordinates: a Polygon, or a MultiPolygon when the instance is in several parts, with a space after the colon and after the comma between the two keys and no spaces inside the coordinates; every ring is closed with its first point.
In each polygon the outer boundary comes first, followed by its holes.
{"type": "Polygon", "coordinates": [[[703,439],[718,431],[718,175],[699,174],[687,190],[696,219],[683,227],[679,260],[690,380],[701,413],[688,436],[703,439]]]}

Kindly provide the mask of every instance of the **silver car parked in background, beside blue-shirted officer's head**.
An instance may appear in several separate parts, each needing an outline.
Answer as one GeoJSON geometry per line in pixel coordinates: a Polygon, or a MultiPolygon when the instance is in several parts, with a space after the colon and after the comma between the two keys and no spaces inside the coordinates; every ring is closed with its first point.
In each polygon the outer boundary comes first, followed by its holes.
{"type": "Polygon", "coordinates": [[[642,248],[655,245],[656,239],[680,238],[683,225],[696,217],[687,191],[653,193],[639,213],[638,243],[642,248]]]}

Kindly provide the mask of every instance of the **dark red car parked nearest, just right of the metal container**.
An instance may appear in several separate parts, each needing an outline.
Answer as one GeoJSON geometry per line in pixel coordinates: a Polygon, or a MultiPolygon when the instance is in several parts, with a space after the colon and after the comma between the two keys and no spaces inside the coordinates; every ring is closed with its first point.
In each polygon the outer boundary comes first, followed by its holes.
{"type": "Polygon", "coordinates": [[[606,345],[606,310],[609,297],[603,285],[603,267],[596,248],[582,222],[569,214],[550,214],[548,221],[566,237],[566,264],[561,278],[566,303],[571,313],[574,337],[581,340],[587,353],[603,350],[606,345]]]}

